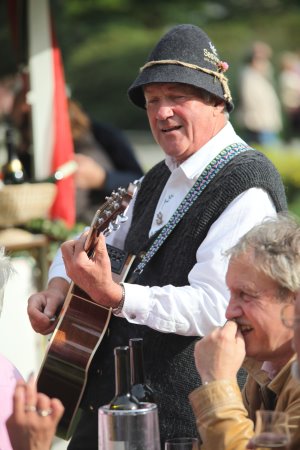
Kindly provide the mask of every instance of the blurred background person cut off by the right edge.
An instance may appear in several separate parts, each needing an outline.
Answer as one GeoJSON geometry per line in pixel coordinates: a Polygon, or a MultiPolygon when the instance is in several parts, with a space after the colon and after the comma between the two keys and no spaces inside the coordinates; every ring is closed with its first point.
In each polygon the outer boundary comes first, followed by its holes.
{"type": "Polygon", "coordinates": [[[285,52],[280,60],[280,98],[286,118],[286,139],[289,143],[300,138],[300,58],[285,52]]]}

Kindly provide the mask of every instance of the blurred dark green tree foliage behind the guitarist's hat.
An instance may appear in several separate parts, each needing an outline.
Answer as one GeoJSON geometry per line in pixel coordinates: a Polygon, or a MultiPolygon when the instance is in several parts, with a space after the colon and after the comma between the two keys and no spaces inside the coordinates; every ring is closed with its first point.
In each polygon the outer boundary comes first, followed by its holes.
{"type": "MultiPolygon", "coordinates": [[[[18,55],[7,1],[0,2],[0,75],[25,59],[26,1],[16,2],[18,55]]],[[[194,23],[211,36],[230,65],[235,103],[240,65],[253,40],[273,47],[277,67],[281,52],[300,51],[299,0],[49,0],[49,5],[72,96],[95,118],[124,129],[148,128],[145,114],[128,101],[127,89],[153,45],[175,24],[194,23]]]]}

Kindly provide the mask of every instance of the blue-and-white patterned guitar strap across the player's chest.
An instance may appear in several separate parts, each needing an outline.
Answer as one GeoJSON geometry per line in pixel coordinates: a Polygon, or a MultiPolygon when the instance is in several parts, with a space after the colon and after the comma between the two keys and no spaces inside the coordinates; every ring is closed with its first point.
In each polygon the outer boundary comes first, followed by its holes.
{"type": "Polygon", "coordinates": [[[180,205],[177,207],[176,211],[168,221],[168,223],[162,228],[161,232],[157,236],[157,238],[152,243],[149,250],[144,254],[141,262],[137,265],[134,274],[140,275],[146,264],[153,258],[155,253],[160,249],[162,244],[165,242],[167,237],[174,230],[176,225],[180,222],[183,216],[187,213],[187,211],[191,208],[195,200],[200,196],[203,190],[207,187],[210,181],[217,175],[217,173],[236,155],[250,150],[246,144],[243,143],[235,143],[231,144],[225,149],[223,149],[204,169],[201,173],[193,187],[189,190],[187,195],[184,197],[180,205]]]}

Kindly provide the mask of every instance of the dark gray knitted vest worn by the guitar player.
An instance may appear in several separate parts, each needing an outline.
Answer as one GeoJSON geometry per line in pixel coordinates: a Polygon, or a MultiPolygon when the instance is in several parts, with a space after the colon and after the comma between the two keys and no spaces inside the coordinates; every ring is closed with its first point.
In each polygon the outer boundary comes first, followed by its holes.
{"type": "MultiPolygon", "coordinates": [[[[139,254],[149,248],[153,214],[169,175],[162,162],[143,180],[126,240],[126,249],[131,253],[139,254]]],[[[239,154],[210,182],[136,282],[149,286],[187,285],[188,273],[196,263],[196,251],[210,226],[232,200],[252,187],[267,191],[277,211],[287,208],[284,187],[272,163],[256,151],[239,154]]],[[[162,442],[172,436],[196,435],[188,394],[201,382],[193,357],[197,338],[160,333],[122,318],[111,319],[109,333],[94,357],[83,406],[92,405],[96,409],[112,399],[113,349],[127,345],[131,337],[144,339],[145,370],[159,408],[162,442]]]]}

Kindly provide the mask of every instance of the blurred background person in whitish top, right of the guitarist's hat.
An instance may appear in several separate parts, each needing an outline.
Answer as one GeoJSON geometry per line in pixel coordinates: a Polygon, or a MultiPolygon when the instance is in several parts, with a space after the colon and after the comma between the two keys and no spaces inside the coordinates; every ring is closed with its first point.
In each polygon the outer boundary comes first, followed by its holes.
{"type": "Polygon", "coordinates": [[[271,57],[268,44],[254,42],[239,78],[237,121],[242,137],[251,145],[276,145],[282,130],[271,57]]]}

